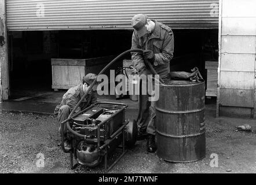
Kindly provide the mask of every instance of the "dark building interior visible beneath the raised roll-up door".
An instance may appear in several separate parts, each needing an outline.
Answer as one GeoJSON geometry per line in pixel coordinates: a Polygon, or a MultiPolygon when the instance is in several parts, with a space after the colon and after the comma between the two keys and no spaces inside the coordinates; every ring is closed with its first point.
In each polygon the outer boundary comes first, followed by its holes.
{"type": "MultiPolygon", "coordinates": [[[[118,56],[130,49],[132,33],[131,29],[9,31],[9,99],[54,92],[51,58],[118,56]]],[[[189,72],[197,66],[206,79],[205,61],[218,60],[218,29],[173,29],[173,33],[171,71],[189,72]]]]}

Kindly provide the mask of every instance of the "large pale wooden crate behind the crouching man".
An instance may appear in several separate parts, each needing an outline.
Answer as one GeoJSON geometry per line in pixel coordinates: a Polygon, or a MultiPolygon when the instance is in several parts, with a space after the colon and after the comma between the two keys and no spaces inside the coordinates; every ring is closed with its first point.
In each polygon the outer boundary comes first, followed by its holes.
{"type": "Polygon", "coordinates": [[[68,89],[81,84],[83,76],[87,73],[97,75],[113,58],[114,56],[87,59],[52,58],[52,88],[68,89]]]}

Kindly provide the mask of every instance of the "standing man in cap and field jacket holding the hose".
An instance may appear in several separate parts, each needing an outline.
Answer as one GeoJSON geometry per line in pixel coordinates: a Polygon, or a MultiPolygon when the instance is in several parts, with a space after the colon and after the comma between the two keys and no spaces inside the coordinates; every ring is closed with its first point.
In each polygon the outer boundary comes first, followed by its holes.
{"type": "MultiPolygon", "coordinates": [[[[142,54],[131,54],[131,60],[139,75],[152,74],[144,63],[144,60],[147,60],[162,79],[166,78],[170,72],[170,60],[174,51],[174,36],[171,28],[156,20],[150,20],[144,14],[136,14],[131,20],[131,25],[134,28],[131,49],[144,50],[142,54]]],[[[149,102],[148,98],[148,95],[141,95],[141,113],[137,123],[138,138],[147,136],[147,150],[154,152],[156,150],[155,102],[149,102]]]]}

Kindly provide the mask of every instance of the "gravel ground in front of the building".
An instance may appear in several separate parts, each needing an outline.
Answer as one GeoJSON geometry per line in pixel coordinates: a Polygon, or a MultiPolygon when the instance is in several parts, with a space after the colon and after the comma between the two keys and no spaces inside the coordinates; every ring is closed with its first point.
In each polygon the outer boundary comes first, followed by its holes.
{"type": "MultiPolygon", "coordinates": [[[[136,112],[136,111],[135,111],[136,112]]],[[[155,153],[145,152],[146,140],[140,140],[109,173],[256,173],[255,131],[236,131],[235,126],[253,119],[214,117],[206,112],[206,157],[197,162],[170,163],[155,153]],[[211,154],[218,154],[218,167],[211,167],[211,154]]],[[[58,124],[53,116],[0,112],[0,173],[104,173],[103,165],[70,170],[69,154],[58,146],[58,124]],[[45,167],[36,167],[37,154],[45,156],[45,167]]]]}

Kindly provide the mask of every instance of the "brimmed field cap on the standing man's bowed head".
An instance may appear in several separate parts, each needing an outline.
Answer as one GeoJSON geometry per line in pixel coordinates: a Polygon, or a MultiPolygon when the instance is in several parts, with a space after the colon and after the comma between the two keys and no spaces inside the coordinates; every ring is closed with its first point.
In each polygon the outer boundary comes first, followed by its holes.
{"type": "Polygon", "coordinates": [[[147,28],[145,27],[145,25],[147,24],[147,19],[148,19],[148,16],[141,13],[136,14],[131,19],[131,25],[137,31],[137,34],[139,37],[144,36],[148,32],[147,28]]]}

